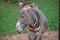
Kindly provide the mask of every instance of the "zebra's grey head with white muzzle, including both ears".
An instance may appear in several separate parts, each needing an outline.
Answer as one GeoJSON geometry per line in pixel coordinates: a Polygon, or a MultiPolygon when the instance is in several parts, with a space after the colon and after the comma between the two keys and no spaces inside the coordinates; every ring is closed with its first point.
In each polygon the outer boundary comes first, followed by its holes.
{"type": "MultiPolygon", "coordinates": [[[[17,32],[22,33],[24,26],[26,27],[29,22],[31,22],[30,15],[28,14],[30,9],[36,9],[34,3],[19,3],[20,14],[18,17],[18,22],[16,24],[17,32]]],[[[31,12],[30,12],[31,13],[31,12]]],[[[32,12],[33,13],[33,12],[32,12]]]]}

